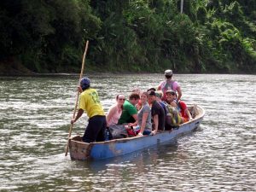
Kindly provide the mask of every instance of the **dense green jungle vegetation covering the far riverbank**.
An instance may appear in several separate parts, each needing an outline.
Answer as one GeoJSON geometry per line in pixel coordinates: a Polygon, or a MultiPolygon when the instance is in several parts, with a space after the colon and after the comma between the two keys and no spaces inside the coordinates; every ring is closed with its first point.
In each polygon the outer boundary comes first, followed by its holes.
{"type": "Polygon", "coordinates": [[[1,0],[0,63],[36,73],[255,73],[255,0],[1,0]],[[17,65],[16,63],[19,63],[17,65]],[[21,67],[21,68],[22,68],[21,67]]]}

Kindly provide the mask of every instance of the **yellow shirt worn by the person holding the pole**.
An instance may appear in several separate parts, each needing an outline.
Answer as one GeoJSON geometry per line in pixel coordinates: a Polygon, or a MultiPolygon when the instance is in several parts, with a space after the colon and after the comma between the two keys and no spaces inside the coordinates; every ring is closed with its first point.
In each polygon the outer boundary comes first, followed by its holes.
{"type": "Polygon", "coordinates": [[[105,115],[98,93],[95,89],[90,88],[81,93],[79,108],[82,108],[89,118],[95,115],[105,115]]]}

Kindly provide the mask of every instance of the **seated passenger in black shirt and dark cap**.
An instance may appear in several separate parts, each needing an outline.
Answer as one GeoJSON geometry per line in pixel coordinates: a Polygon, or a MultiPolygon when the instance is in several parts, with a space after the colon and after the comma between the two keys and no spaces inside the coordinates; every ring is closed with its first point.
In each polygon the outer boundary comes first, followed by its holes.
{"type": "Polygon", "coordinates": [[[158,130],[165,130],[166,114],[164,109],[160,106],[160,103],[156,101],[154,91],[150,91],[148,99],[152,103],[151,117],[153,119],[154,129],[154,131],[152,131],[152,134],[155,134],[158,130]]]}

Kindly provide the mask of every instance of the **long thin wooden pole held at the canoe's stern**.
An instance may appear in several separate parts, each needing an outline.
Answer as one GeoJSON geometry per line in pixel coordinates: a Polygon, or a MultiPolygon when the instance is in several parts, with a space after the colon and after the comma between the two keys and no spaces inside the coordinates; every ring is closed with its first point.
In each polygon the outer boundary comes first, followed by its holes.
{"type": "MultiPolygon", "coordinates": [[[[79,77],[79,84],[80,84],[80,80],[82,79],[83,73],[84,73],[84,63],[85,63],[85,57],[86,57],[86,53],[87,53],[87,49],[88,49],[88,44],[89,44],[89,41],[86,41],[84,55],[83,55],[83,61],[82,61],[82,67],[81,67],[81,73],[80,73],[80,77],[79,77]]],[[[79,90],[78,90],[78,93],[77,93],[77,96],[76,96],[75,108],[73,109],[73,119],[75,118],[75,115],[76,115],[76,111],[77,111],[77,108],[78,108],[78,102],[79,102],[79,90]]],[[[67,156],[69,138],[71,137],[72,130],[73,130],[73,124],[71,124],[70,128],[69,128],[68,139],[67,139],[67,148],[66,148],[65,156],[67,156]]]]}

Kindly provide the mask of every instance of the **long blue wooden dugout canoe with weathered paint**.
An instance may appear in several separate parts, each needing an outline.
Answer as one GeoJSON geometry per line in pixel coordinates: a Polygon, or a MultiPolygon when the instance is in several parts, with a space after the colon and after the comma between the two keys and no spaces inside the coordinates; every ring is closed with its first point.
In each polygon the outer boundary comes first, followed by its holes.
{"type": "Polygon", "coordinates": [[[127,137],[97,143],[84,143],[81,136],[71,137],[68,143],[70,157],[72,160],[102,160],[170,141],[194,131],[201,124],[205,114],[204,109],[194,105],[189,107],[189,111],[193,120],[179,125],[172,131],[160,131],[154,136],[127,137]]]}

